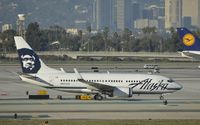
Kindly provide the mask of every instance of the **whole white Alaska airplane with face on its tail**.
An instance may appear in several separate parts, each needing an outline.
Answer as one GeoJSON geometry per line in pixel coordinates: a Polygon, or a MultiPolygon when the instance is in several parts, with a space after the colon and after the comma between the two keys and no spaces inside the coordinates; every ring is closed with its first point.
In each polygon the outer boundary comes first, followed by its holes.
{"type": "MultiPolygon", "coordinates": [[[[84,93],[94,95],[95,100],[102,100],[103,95],[109,97],[129,97],[134,94],[173,93],[182,89],[182,85],[171,78],[160,75],[134,73],[67,73],[47,66],[21,37],[15,36],[15,44],[21,63],[21,80],[48,89],[63,92],[84,93]]],[[[167,103],[167,100],[165,100],[167,103]]]]}

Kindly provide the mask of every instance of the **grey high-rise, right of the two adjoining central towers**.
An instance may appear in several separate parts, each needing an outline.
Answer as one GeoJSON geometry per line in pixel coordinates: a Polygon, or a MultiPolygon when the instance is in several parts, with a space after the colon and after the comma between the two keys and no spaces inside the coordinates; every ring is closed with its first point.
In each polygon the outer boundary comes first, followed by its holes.
{"type": "Polygon", "coordinates": [[[116,23],[118,30],[132,29],[133,14],[131,0],[116,0],[116,23]]]}

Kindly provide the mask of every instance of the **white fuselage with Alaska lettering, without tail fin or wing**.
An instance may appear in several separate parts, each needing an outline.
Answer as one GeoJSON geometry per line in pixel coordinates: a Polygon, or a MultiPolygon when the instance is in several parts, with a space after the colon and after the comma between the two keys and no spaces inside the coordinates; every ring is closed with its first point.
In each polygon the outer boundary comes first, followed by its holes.
{"type": "MultiPolygon", "coordinates": [[[[127,74],[127,73],[81,73],[84,80],[116,88],[132,88],[133,94],[162,94],[180,90],[182,86],[169,78],[159,75],[127,74]],[[141,83],[140,83],[141,82],[141,83]],[[140,83],[140,84],[137,84],[140,83]]],[[[41,73],[29,79],[21,75],[22,80],[42,87],[65,92],[96,93],[95,88],[79,82],[75,73],[41,73]]]]}

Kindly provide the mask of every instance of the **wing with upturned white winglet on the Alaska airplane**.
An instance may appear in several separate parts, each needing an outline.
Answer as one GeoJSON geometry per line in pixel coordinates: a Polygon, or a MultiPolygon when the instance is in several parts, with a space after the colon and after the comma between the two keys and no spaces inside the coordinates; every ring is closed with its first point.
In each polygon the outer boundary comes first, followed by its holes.
{"type": "Polygon", "coordinates": [[[77,79],[79,82],[82,82],[82,83],[85,83],[89,86],[92,86],[94,87],[95,89],[98,89],[100,91],[113,91],[114,90],[114,86],[110,86],[110,85],[105,85],[105,84],[102,84],[102,83],[95,83],[95,82],[90,82],[90,81],[86,81],[83,79],[83,77],[81,76],[81,74],[77,71],[76,68],[74,68],[74,72],[77,76],[77,79]]]}

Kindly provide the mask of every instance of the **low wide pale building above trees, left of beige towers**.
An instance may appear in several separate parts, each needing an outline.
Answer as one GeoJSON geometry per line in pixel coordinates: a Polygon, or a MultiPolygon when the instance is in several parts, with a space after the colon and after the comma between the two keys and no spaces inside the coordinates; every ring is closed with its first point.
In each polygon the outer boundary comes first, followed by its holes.
{"type": "Polygon", "coordinates": [[[146,27],[156,27],[158,28],[158,21],[157,20],[150,20],[150,19],[138,19],[134,22],[135,29],[143,29],[146,27]]]}

